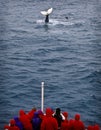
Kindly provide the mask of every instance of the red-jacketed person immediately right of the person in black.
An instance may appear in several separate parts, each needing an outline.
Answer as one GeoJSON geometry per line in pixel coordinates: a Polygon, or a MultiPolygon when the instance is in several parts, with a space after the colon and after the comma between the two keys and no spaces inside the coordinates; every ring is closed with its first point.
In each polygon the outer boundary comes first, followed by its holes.
{"type": "Polygon", "coordinates": [[[65,117],[65,120],[62,121],[60,130],[69,130],[68,113],[67,112],[63,112],[63,115],[65,117]]]}

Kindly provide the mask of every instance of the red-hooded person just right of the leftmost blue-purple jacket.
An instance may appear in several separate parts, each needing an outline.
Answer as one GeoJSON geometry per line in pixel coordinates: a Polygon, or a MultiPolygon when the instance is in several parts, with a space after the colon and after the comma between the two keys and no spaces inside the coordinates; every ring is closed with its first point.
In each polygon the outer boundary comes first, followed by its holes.
{"type": "Polygon", "coordinates": [[[33,130],[31,121],[28,118],[28,115],[26,115],[26,113],[24,112],[24,110],[19,111],[19,120],[23,124],[25,130],[33,130]]]}

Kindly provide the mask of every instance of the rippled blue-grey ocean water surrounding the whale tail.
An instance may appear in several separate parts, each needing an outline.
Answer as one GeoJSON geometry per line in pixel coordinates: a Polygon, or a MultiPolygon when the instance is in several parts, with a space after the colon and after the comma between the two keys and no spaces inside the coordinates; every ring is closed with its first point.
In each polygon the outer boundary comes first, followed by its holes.
{"type": "Polygon", "coordinates": [[[45,108],[101,125],[100,0],[0,0],[0,130],[40,109],[42,81],[45,108]]]}

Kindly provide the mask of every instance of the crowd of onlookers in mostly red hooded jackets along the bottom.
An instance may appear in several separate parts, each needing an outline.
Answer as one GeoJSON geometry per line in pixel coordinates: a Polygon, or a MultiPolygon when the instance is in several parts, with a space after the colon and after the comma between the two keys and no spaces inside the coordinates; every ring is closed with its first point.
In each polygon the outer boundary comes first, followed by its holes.
{"type": "Polygon", "coordinates": [[[80,114],[69,120],[68,112],[61,112],[60,108],[55,112],[46,108],[45,114],[33,108],[28,113],[20,110],[19,115],[4,126],[4,130],[100,130],[100,126],[96,124],[85,127],[80,114]]]}

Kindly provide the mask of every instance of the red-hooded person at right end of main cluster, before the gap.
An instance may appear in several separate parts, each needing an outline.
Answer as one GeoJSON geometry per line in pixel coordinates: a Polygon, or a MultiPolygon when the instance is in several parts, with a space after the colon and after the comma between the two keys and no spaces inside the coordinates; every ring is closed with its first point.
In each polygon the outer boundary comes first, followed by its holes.
{"type": "Polygon", "coordinates": [[[80,114],[75,115],[73,127],[74,127],[74,130],[85,130],[84,123],[80,120],[80,114]]]}

